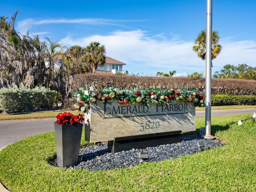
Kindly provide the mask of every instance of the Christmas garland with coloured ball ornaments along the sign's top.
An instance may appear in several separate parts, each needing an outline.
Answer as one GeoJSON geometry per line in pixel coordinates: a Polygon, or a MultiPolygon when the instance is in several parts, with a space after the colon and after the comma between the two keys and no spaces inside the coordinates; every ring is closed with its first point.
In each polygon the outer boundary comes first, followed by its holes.
{"type": "Polygon", "coordinates": [[[134,90],[120,90],[119,88],[104,88],[102,90],[94,90],[93,87],[87,90],[83,87],[73,91],[76,97],[76,103],[73,108],[77,113],[88,111],[90,103],[93,102],[118,102],[120,105],[136,104],[142,105],[162,104],[168,105],[171,102],[193,102],[195,106],[205,106],[205,94],[199,92],[198,89],[188,88],[147,88],[134,90]]]}

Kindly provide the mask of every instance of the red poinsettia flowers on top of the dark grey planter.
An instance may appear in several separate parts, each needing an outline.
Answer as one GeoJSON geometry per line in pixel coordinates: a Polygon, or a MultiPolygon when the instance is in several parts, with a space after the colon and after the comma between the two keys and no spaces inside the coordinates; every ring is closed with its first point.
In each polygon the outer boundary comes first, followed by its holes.
{"type": "Polygon", "coordinates": [[[67,112],[59,113],[56,116],[56,118],[57,118],[56,123],[60,125],[78,124],[78,123],[82,123],[84,120],[81,114],[73,115],[72,113],[67,113],[67,112]]]}

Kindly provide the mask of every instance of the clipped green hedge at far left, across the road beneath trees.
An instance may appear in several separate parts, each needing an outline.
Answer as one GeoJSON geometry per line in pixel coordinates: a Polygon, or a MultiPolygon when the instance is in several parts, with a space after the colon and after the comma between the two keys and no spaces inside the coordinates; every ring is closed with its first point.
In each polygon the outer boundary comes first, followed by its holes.
{"type": "Polygon", "coordinates": [[[47,90],[45,87],[1,88],[0,108],[4,112],[52,108],[56,97],[56,91],[47,90]]]}

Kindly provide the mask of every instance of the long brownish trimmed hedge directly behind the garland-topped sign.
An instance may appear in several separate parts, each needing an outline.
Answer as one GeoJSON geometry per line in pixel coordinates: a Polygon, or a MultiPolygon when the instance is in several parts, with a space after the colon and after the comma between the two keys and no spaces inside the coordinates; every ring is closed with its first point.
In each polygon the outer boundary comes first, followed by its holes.
{"type": "MultiPolygon", "coordinates": [[[[152,88],[152,87],[186,87],[205,89],[204,78],[188,77],[151,77],[151,76],[128,76],[111,73],[86,73],[78,74],[73,78],[72,89],[80,86],[94,86],[96,89],[104,87],[118,87],[122,89],[152,88]]],[[[256,81],[245,79],[212,78],[212,94],[229,95],[256,95],[256,81]]]]}

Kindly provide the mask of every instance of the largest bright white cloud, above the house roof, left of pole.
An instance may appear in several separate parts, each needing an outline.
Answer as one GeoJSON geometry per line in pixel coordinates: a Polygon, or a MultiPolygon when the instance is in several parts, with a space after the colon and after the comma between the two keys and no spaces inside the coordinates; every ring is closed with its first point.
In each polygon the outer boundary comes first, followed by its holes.
{"type": "Polygon", "coordinates": [[[127,63],[140,62],[144,67],[175,69],[185,65],[195,68],[194,63],[200,62],[192,51],[193,42],[159,40],[141,30],[116,31],[106,36],[95,35],[80,39],[69,37],[62,39],[62,42],[68,46],[85,46],[94,41],[105,45],[107,56],[119,58],[127,63]]]}

